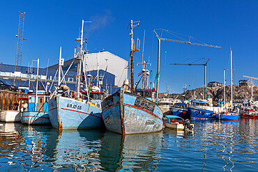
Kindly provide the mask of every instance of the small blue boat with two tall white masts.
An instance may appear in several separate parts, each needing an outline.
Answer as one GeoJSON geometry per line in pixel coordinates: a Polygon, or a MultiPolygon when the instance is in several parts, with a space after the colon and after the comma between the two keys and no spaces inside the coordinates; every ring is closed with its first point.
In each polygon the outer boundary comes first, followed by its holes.
{"type": "Polygon", "coordinates": [[[218,120],[238,120],[238,114],[233,111],[233,75],[232,75],[232,71],[233,71],[233,65],[232,65],[232,49],[230,49],[230,62],[231,62],[231,100],[230,100],[230,104],[231,106],[229,108],[227,108],[226,106],[226,91],[225,91],[225,86],[226,86],[226,78],[225,78],[225,70],[224,70],[224,104],[225,107],[223,109],[223,111],[221,111],[219,114],[215,115],[215,118],[217,118],[218,120]]]}

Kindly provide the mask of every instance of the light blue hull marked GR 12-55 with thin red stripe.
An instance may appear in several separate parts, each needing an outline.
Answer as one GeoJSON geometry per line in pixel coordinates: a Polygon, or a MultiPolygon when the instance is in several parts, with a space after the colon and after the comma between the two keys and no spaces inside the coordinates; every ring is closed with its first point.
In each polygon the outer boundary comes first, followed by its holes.
{"type": "Polygon", "coordinates": [[[104,127],[101,109],[68,97],[52,97],[48,102],[50,122],[59,130],[104,127]]]}

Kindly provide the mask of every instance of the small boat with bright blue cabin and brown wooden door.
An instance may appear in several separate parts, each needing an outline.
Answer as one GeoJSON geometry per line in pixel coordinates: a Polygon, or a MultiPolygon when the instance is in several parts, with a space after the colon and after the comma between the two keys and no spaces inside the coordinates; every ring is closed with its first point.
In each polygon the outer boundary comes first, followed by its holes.
{"type": "Polygon", "coordinates": [[[50,124],[47,102],[50,95],[47,93],[28,94],[28,103],[23,104],[21,122],[28,125],[50,124]]]}

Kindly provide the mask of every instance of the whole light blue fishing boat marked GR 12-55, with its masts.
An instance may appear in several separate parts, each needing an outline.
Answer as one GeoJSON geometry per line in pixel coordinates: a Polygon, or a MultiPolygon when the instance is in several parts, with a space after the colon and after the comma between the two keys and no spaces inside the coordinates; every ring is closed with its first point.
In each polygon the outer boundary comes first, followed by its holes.
{"type": "MultiPolygon", "coordinates": [[[[103,93],[91,94],[89,97],[89,88],[86,86],[86,96],[80,91],[81,88],[81,68],[84,63],[83,58],[86,56],[87,51],[83,47],[86,41],[83,41],[83,28],[84,20],[82,20],[82,31],[81,37],[77,40],[80,41],[78,49],[75,49],[75,60],[78,61],[77,65],[77,76],[76,76],[76,91],[70,91],[68,86],[59,85],[56,87],[56,91],[52,94],[50,101],[48,102],[50,122],[52,126],[59,130],[71,130],[71,129],[89,129],[104,127],[103,119],[101,116],[100,102],[104,99],[103,93]],[[95,98],[99,101],[93,102],[93,95],[99,95],[95,98]]],[[[61,59],[61,55],[59,57],[61,59]]],[[[70,66],[73,63],[70,64],[70,66]]],[[[59,60],[59,71],[61,70],[61,60],[59,60]]],[[[86,74],[86,71],[84,71],[86,74]]],[[[59,72],[59,79],[61,72],[59,72]]],[[[85,77],[85,75],[84,75],[85,77]]],[[[64,77],[63,77],[64,78],[64,77]]],[[[86,81],[86,77],[85,77],[86,81]]],[[[95,99],[95,100],[96,100],[95,99]]]]}

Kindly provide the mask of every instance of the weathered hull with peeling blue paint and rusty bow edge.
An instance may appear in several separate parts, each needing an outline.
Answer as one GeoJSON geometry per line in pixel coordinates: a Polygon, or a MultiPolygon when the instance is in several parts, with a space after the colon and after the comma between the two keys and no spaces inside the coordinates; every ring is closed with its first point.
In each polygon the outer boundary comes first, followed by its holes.
{"type": "Polygon", "coordinates": [[[132,93],[120,92],[103,100],[105,127],[119,134],[140,134],[162,130],[162,111],[155,103],[132,93]]]}

